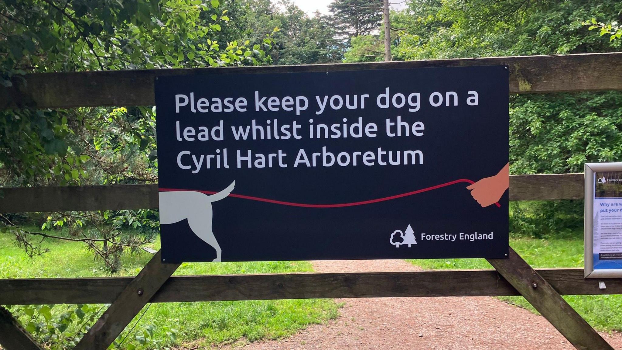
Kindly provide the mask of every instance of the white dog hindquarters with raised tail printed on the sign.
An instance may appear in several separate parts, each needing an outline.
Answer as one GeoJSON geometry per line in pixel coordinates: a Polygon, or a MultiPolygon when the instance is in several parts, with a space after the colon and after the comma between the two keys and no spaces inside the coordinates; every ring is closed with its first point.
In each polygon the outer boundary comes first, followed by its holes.
{"type": "Polygon", "coordinates": [[[216,249],[214,262],[220,262],[222,250],[211,230],[211,203],[229,196],[235,181],[223,191],[208,196],[197,191],[160,192],[160,224],[175,224],[188,219],[190,229],[205,243],[216,249]]]}

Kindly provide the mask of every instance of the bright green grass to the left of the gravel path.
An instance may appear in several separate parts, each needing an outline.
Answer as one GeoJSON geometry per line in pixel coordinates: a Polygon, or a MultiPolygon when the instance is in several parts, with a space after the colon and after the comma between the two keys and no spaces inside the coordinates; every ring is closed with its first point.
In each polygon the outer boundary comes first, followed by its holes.
{"type": "MultiPolygon", "coordinates": [[[[80,242],[47,239],[42,247],[49,248],[50,252],[34,259],[26,257],[12,242],[9,234],[0,234],[0,278],[108,276],[106,269],[100,262],[93,261],[93,255],[80,242]]],[[[159,240],[152,248],[159,248],[159,240]]],[[[123,270],[118,275],[136,275],[151,257],[143,252],[124,257],[123,270]]],[[[308,271],[312,271],[309,262],[183,263],[175,275],[308,271]]],[[[64,308],[56,306],[52,311],[61,313],[64,308]]],[[[180,341],[201,339],[200,343],[206,345],[238,339],[274,339],[309,324],[336,318],[337,310],[338,305],[333,300],[154,303],[124,345],[134,338],[136,331],[142,331],[149,324],[156,326],[154,339],[165,339],[170,328],[176,329],[180,341]]]]}

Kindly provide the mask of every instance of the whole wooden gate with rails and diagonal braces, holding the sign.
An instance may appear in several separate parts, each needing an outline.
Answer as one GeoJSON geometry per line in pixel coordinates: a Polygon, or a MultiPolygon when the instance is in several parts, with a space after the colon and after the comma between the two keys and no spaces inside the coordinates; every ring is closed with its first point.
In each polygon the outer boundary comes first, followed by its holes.
{"type": "MultiPolygon", "coordinates": [[[[225,69],[43,73],[0,87],[0,109],[154,104],[154,79],[164,75],[324,72],[467,65],[508,65],[511,93],[622,90],[622,53],[493,57],[369,64],[297,65],[225,69]]],[[[0,188],[0,212],[149,209],[156,185],[0,188]]],[[[510,177],[511,201],[581,199],[583,174],[510,177]]],[[[148,302],[367,298],[388,296],[523,295],[578,349],[612,349],[560,295],[622,294],[621,278],[586,280],[578,268],[538,269],[510,249],[489,259],[495,270],[288,273],[170,277],[178,264],[160,253],[137,277],[0,280],[0,305],[111,303],[76,349],[104,350],[148,302]],[[599,281],[606,288],[600,289],[599,281]]],[[[7,350],[40,349],[11,315],[0,315],[7,350]],[[17,340],[16,340],[17,339],[17,340]]]]}

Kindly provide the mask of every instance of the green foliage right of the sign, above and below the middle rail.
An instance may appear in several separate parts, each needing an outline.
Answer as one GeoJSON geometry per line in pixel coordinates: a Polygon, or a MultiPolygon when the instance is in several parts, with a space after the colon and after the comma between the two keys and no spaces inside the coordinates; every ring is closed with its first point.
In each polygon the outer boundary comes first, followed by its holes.
{"type": "MultiPolygon", "coordinates": [[[[622,157],[622,93],[517,95],[510,105],[514,174],[581,173],[622,157]]],[[[512,202],[510,230],[531,237],[582,227],[583,201],[512,202]]]]}

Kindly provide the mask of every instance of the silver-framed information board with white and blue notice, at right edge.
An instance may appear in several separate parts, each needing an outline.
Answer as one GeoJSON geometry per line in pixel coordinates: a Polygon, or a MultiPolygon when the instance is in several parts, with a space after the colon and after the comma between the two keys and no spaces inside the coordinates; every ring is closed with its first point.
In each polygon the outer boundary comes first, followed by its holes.
{"type": "Polygon", "coordinates": [[[622,163],[585,164],[585,277],[622,277],[622,163]]]}

